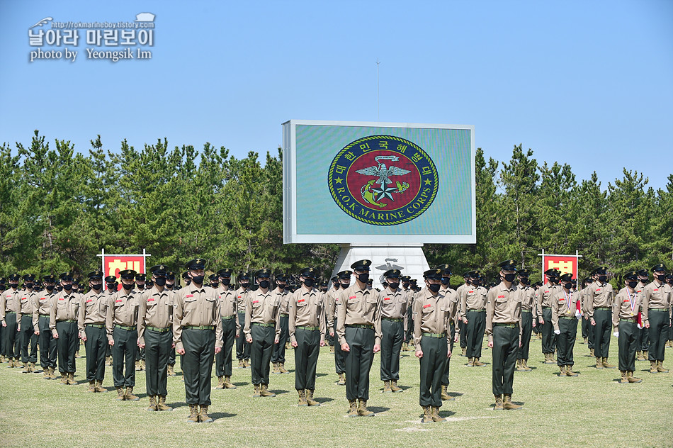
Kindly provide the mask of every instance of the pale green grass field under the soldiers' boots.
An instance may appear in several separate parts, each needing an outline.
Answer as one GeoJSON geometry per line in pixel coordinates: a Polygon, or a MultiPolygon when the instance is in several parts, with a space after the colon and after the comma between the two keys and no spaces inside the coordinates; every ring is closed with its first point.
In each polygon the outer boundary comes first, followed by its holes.
{"type": "MultiPolygon", "coordinates": [[[[580,339],[581,340],[581,339],[580,339]]],[[[649,363],[636,363],[643,383],[621,385],[617,369],[594,369],[587,345],[575,345],[577,378],[559,378],[558,367],[543,364],[541,343],[533,338],[532,372],[516,373],[513,401],[523,410],[494,411],[490,350],[485,367],[467,367],[459,355],[451,361],[444,402],[447,423],[420,422],[419,362],[403,352],[403,393],[380,393],[378,355],[371,371],[370,409],[374,418],[347,418],[346,391],[336,386],[334,357],[324,347],[319,357],[316,398],[322,406],[299,408],[294,389],[293,352],[290,374],[271,375],[275,398],[252,398],[249,369],[236,369],[236,390],[213,390],[212,424],[187,424],[184,384],[168,379],[167,403],[173,412],[149,413],[145,373],[137,372],[140,401],[115,401],[111,367],[103,382],[110,392],[87,393],[85,359],[77,360],[79,386],[45,381],[42,374],[22,374],[0,364],[0,432],[2,447],[671,447],[673,446],[673,374],[650,374],[649,363]],[[586,356],[585,356],[586,355],[586,356]]],[[[82,347],[84,354],[84,347],[82,347]]],[[[673,367],[673,349],[666,350],[673,367]]],[[[616,338],[611,362],[617,363],[616,338]]],[[[179,363],[176,366],[179,368],[179,363]]],[[[179,370],[179,369],[178,369],[179,370]]],[[[217,378],[213,377],[213,386],[217,378]]]]}

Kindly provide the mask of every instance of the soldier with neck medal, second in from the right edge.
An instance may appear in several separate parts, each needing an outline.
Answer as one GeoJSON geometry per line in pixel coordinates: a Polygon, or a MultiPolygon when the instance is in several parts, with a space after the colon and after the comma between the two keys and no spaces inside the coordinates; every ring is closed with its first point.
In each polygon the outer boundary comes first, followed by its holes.
{"type": "Polygon", "coordinates": [[[635,350],[638,349],[638,313],[645,311],[643,295],[636,291],[638,287],[638,272],[630,271],[624,275],[625,288],[622,288],[615,297],[615,308],[612,315],[614,335],[619,347],[619,383],[640,383],[635,378],[635,350]]]}

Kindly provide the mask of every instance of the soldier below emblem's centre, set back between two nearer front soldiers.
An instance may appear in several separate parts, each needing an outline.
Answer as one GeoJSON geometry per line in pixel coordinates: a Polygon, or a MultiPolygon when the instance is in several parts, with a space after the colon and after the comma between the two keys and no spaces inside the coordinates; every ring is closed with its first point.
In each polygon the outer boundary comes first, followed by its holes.
{"type": "Polygon", "coordinates": [[[390,269],[383,274],[388,286],[383,289],[381,305],[381,381],[383,392],[402,392],[400,379],[400,352],[405,339],[409,296],[400,286],[400,270],[390,269]]]}

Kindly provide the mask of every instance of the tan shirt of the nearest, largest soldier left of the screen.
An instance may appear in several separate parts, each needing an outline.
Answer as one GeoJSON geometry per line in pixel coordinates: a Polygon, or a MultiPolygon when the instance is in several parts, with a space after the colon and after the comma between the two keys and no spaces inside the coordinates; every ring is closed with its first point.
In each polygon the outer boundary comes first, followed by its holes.
{"type": "Polygon", "coordinates": [[[176,291],[173,308],[173,341],[176,349],[183,349],[183,327],[209,325],[215,327],[215,348],[222,348],[222,313],[215,289],[197,288],[191,283],[176,291]]]}

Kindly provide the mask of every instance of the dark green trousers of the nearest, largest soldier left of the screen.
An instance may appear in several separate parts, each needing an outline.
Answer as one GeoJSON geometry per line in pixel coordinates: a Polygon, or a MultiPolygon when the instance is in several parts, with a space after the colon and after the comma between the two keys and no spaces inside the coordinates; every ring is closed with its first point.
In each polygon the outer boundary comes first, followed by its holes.
{"type": "Polygon", "coordinates": [[[182,374],[188,405],[210,406],[210,374],[215,355],[215,330],[183,328],[182,374]]]}

